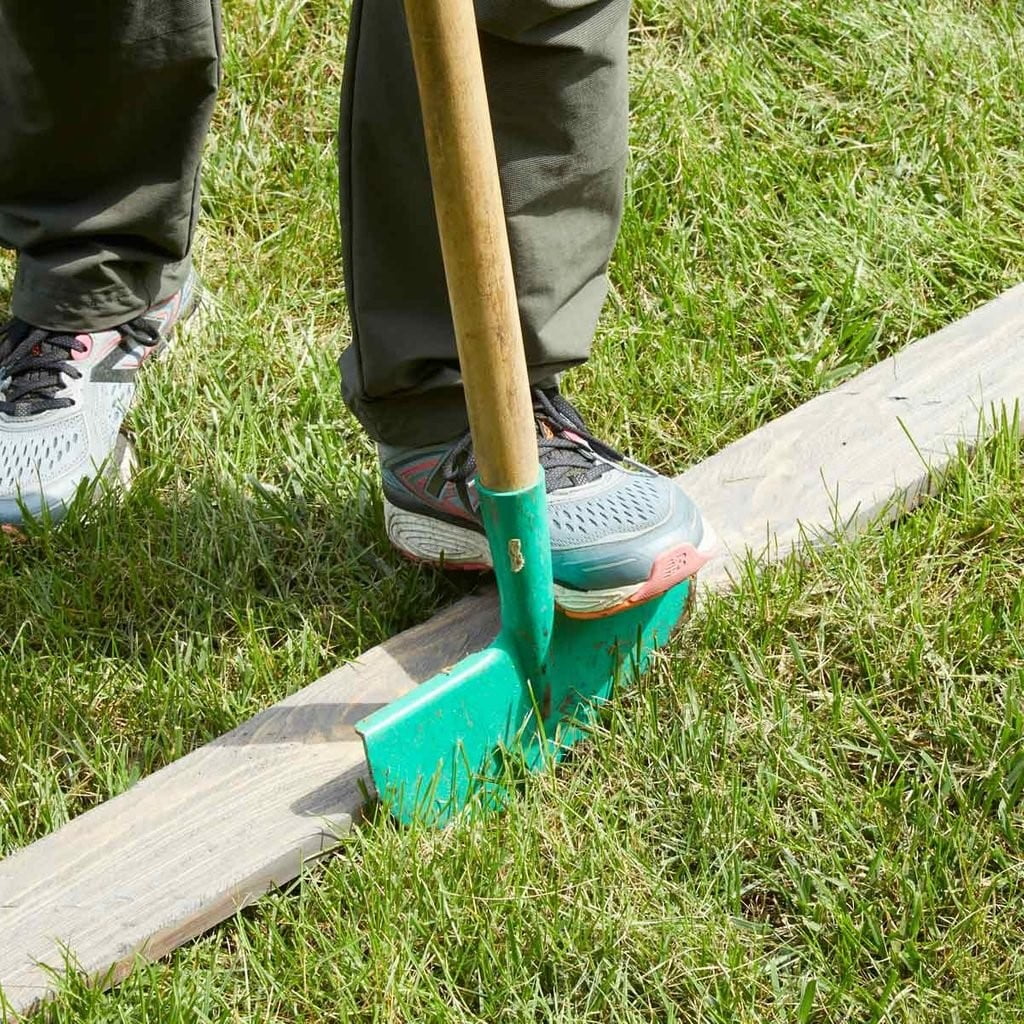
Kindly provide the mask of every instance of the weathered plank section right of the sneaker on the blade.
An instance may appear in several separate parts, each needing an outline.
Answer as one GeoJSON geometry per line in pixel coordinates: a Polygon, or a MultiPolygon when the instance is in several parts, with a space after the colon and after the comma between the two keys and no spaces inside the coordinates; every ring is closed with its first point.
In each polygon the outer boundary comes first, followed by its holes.
{"type": "Polygon", "coordinates": [[[680,482],[723,541],[707,582],[750,550],[784,555],[910,508],[992,407],[1024,401],[1024,285],[740,438],[680,482]]]}

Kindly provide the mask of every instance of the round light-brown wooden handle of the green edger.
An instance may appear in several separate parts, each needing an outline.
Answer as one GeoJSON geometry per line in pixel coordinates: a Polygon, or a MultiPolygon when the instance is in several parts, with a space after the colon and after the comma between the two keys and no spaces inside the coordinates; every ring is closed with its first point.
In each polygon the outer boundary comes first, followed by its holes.
{"type": "Polygon", "coordinates": [[[518,490],[537,434],[473,2],[406,0],[406,16],[480,481],[518,490]]]}

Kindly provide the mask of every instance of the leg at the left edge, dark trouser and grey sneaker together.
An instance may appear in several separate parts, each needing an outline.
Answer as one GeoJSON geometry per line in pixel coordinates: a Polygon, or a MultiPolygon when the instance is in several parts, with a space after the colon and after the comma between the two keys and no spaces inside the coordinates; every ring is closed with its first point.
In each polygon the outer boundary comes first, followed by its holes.
{"type": "Polygon", "coordinates": [[[219,0],[0,0],[0,524],[123,475],[141,364],[191,310],[219,0]]]}

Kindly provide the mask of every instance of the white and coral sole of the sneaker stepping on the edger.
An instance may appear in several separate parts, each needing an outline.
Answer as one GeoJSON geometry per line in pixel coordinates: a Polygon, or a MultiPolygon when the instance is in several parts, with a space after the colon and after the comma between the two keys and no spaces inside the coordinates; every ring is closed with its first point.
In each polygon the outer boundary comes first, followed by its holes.
{"type": "MultiPolygon", "coordinates": [[[[475,529],[409,512],[384,499],[388,540],[413,561],[457,570],[492,567],[487,539],[475,529]]],[[[700,544],[680,544],[658,555],[650,574],[640,583],[605,590],[573,590],[559,583],[555,604],[570,618],[603,618],[658,597],[698,572],[718,549],[715,531],[705,523],[700,544]]]]}

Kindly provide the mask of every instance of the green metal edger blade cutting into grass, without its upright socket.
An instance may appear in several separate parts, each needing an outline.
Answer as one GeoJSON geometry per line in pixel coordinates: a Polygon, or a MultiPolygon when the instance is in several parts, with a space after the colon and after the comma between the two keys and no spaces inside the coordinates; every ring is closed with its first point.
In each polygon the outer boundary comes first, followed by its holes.
{"type": "Polygon", "coordinates": [[[504,758],[538,770],[560,757],[585,734],[595,706],[669,639],[688,596],[689,584],[680,584],[615,615],[611,629],[607,618],[558,613],[540,685],[527,685],[499,638],[365,718],[356,728],[385,805],[403,823],[439,825],[474,794],[484,805],[500,804],[504,758]],[[545,703],[542,729],[538,710],[543,715],[545,703]]]}

